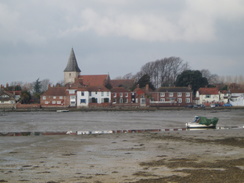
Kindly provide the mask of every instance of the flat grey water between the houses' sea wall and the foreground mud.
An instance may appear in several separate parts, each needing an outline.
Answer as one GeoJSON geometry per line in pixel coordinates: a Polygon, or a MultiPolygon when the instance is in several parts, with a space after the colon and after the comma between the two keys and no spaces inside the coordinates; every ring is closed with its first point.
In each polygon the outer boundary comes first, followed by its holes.
{"type": "Polygon", "coordinates": [[[218,126],[244,126],[243,110],[159,110],[116,112],[8,112],[0,132],[94,131],[184,128],[195,115],[218,117],[218,126]]]}

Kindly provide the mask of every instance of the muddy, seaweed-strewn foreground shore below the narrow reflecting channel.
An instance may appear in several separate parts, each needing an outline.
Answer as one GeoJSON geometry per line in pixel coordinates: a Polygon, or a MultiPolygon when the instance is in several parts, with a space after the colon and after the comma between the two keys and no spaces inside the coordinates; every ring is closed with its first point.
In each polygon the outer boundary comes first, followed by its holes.
{"type": "Polygon", "coordinates": [[[244,130],[0,137],[0,182],[244,182],[244,130]]]}

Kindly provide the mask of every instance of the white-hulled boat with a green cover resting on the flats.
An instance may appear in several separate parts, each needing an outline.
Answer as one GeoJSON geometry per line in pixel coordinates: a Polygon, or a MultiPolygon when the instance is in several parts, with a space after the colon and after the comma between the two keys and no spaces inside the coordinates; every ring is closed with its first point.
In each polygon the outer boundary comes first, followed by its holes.
{"type": "Polygon", "coordinates": [[[216,128],[219,119],[195,116],[193,122],[186,123],[186,128],[216,128]]]}

